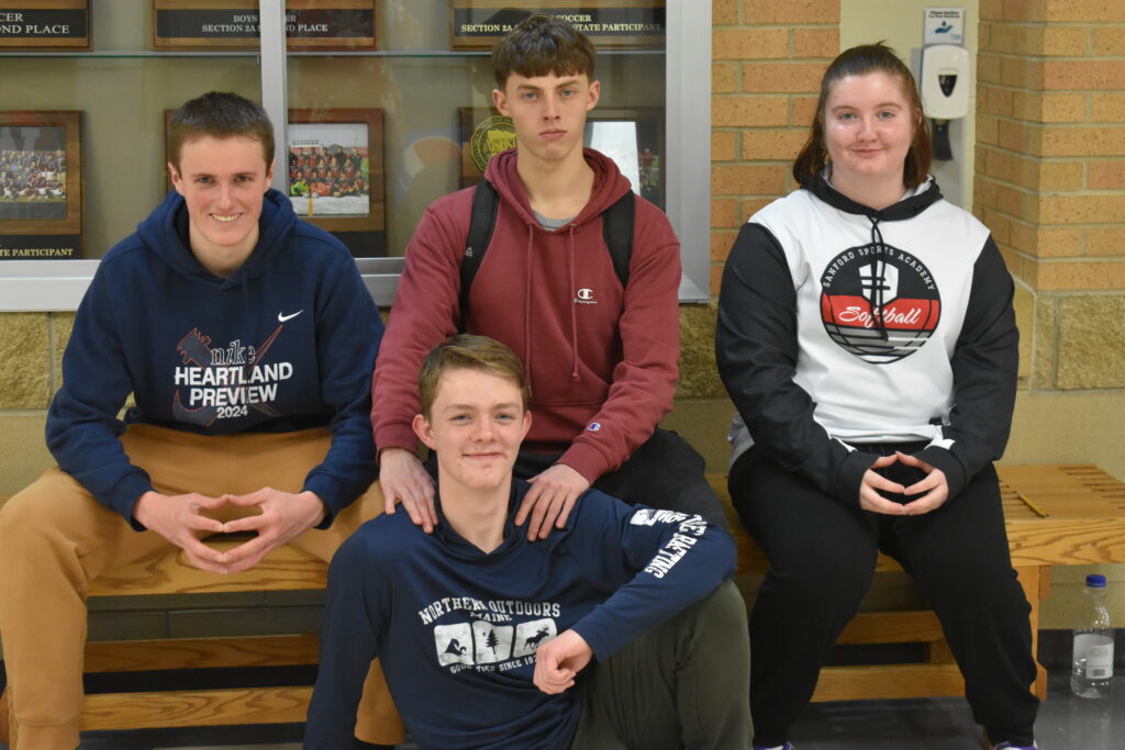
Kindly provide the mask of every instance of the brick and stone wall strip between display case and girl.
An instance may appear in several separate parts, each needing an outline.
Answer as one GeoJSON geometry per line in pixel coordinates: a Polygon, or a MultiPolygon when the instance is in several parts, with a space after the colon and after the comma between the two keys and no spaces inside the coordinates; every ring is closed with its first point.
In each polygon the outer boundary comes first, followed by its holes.
{"type": "Polygon", "coordinates": [[[839,0],[713,0],[711,304],[681,309],[681,381],[665,426],[724,471],[734,414],[714,363],[722,266],[747,217],[793,189],[820,74],[839,52],[839,0]]]}

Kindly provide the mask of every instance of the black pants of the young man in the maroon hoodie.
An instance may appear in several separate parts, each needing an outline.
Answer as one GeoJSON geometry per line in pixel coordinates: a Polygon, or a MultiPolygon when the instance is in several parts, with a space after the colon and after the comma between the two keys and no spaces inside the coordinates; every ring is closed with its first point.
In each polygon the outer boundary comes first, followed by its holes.
{"type": "MultiPolygon", "coordinates": [[[[521,450],[513,473],[530,479],[558,461],[561,453],[521,450]]],[[[727,527],[727,514],[705,476],[706,462],[687,441],[659,427],[616,471],[603,475],[594,489],[629,505],[701,515],[727,527]]]]}

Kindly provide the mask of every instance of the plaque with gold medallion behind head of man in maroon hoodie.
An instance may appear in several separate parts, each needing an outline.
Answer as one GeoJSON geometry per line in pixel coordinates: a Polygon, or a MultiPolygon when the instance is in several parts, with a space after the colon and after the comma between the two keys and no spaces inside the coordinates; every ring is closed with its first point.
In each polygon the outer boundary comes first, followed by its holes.
{"type": "MultiPolygon", "coordinates": [[[[512,120],[492,108],[459,108],[458,130],[462,188],[484,178],[493,156],[515,147],[512,120]]],[[[633,192],[664,209],[663,110],[598,107],[586,116],[584,143],[612,159],[629,179],[633,192]]]]}

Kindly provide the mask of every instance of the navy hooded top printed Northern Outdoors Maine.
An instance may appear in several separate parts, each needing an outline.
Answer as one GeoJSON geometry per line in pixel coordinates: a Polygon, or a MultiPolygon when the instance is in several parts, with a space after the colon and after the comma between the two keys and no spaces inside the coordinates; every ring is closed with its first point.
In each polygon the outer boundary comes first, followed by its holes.
{"type": "Polygon", "coordinates": [[[630,507],[597,490],[565,528],[529,542],[513,517],[485,553],[441,513],[432,534],[405,513],[360,526],[336,552],[306,750],[350,748],[363,679],[379,657],[395,705],[426,750],[562,750],[582,690],[532,683],[536,649],[567,629],[598,662],[698,602],[735,571],[735,544],[700,516],[630,507]]]}

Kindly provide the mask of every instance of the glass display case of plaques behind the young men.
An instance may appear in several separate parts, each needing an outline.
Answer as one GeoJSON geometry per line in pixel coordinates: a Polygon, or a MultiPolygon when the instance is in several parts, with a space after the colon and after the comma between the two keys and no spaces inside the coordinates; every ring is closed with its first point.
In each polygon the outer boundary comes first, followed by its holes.
{"type": "MultiPolygon", "coordinates": [[[[0,311],[78,306],[97,259],[168,189],[168,112],[209,90],[262,102],[279,136],[274,187],[352,250],[380,305],[393,300],[426,206],[479,180],[490,151],[511,145],[492,109],[488,52],[507,3],[71,4],[88,8],[89,48],[0,38],[0,148],[11,146],[4,114],[78,112],[82,259],[0,257],[0,311]]],[[[526,7],[568,15],[598,46],[602,98],[587,143],[611,153],[634,190],[668,213],[683,244],[681,299],[705,300],[710,3],[529,0],[526,7]]],[[[29,226],[7,218],[0,206],[0,251],[6,226],[29,226]]]]}

